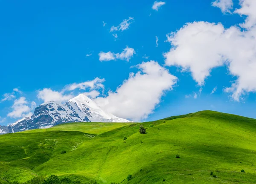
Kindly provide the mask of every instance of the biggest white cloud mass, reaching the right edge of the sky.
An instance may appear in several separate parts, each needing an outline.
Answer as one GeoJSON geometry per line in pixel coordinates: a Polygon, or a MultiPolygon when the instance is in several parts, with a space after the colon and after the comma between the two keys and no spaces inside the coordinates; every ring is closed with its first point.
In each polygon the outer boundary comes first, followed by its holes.
{"type": "Polygon", "coordinates": [[[194,22],[187,23],[177,32],[169,35],[172,48],[164,54],[166,65],[181,66],[192,73],[199,86],[213,68],[227,65],[230,75],[236,77],[231,87],[232,98],[239,101],[241,95],[256,91],[256,11],[252,11],[256,1],[241,1],[237,13],[250,14],[245,30],[237,26],[225,29],[221,23],[194,22]],[[247,4],[245,4],[247,3],[247,4]]]}

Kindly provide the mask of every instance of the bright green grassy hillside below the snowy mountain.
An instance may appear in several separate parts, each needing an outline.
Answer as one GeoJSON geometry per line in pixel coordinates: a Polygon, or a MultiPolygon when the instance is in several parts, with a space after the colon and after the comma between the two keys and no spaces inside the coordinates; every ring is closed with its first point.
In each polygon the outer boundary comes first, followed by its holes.
{"type": "Polygon", "coordinates": [[[256,120],[220,112],[142,124],[62,124],[0,135],[0,145],[0,183],[38,175],[102,184],[256,183],[256,120]]]}

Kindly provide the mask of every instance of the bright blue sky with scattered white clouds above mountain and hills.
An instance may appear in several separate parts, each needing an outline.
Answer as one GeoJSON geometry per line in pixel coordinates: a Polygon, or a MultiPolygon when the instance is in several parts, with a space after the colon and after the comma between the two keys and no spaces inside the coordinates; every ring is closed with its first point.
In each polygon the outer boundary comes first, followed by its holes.
{"type": "Polygon", "coordinates": [[[251,11],[239,0],[168,0],[157,10],[154,0],[1,0],[0,124],[79,93],[135,121],[205,109],[256,118],[256,76],[247,72],[256,69],[255,2],[245,1],[251,11]]]}

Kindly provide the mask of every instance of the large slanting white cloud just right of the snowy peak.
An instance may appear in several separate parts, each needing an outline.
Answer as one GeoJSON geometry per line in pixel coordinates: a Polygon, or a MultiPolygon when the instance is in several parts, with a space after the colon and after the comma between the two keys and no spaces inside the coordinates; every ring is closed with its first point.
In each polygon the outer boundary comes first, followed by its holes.
{"type": "Polygon", "coordinates": [[[106,98],[96,98],[96,103],[106,111],[134,121],[147,118],[160,103],[164,92],[171,90],[177,77],[155,61],[137,65],[136,74],[130,73],[115,92],[106,98]]]}

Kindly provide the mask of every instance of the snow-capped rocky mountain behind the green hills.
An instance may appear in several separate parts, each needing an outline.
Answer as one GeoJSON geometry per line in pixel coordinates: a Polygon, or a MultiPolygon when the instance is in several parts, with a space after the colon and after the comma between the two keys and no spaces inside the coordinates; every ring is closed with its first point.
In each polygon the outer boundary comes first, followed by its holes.
{"type": "Polygon", "coordinates": [[[80,94],[61,104],[55,101],[42,103],[31,117],[8,126],[0,126],[0,134],[21,132],[28,129],[49,128],[70,122],[132,122],[103,111],[94,101],[80,94]]]}

